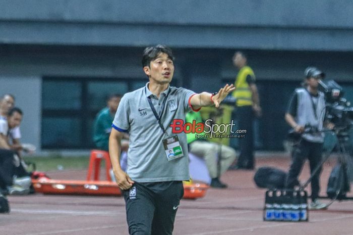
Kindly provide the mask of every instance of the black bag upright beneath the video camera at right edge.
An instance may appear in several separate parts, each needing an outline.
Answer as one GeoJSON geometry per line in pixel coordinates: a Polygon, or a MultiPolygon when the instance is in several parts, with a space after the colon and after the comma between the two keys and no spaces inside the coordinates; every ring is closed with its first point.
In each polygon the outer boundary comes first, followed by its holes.
{"type": "Polygon", "coordinates": [[[346,166],[337,163],[328,178],[327,197],[334,199],[338,193],[336,199],[343,200],[346,198],[347,192],[349,192],[349,181],[346,166]]]}

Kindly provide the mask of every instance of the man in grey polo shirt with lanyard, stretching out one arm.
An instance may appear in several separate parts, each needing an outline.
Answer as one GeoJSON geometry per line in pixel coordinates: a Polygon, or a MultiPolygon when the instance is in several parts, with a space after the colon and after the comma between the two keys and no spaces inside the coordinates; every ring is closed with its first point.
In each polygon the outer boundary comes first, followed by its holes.
{"type": "Polygon", "coordinates": [[[172,133],[170,125],[174,119],[185,121],[190,109],[218,107],[234,89],[227,84],[218,93],[197,94],[169,86],[173,59],[164,45],[144,50],[142,66],[149,82],[124,95],[112,124],[109,155],[116,182],[124,191],[130,234],[172,234],[184,194],[182,180],[190,176],[186,133],[172,133]],[[119,163],[124,132],[130,134],[127,172],[119,163]]]}

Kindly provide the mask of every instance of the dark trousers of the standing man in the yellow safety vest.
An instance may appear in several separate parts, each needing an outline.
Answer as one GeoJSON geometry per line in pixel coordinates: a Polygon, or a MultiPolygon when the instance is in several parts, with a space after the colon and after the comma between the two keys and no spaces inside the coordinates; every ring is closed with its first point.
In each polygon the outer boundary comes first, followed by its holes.
{"type": "Polygon", "coordinates": [[[252,169],[254,160],[254,111],[252,106],[240,106],[237,108],[238,129],[247,130],[244,138],[239,138],[240,155],[237,166],[252,169]]]}

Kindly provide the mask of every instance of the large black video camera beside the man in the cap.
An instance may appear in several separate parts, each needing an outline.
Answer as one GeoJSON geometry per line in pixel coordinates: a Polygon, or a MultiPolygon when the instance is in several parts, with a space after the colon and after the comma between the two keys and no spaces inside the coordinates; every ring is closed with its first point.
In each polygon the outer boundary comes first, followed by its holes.
{"type": "Polygon", "coordinates": [[[319,89],[326,100],[326,119],[335,124],[336,129],[347,131],[353,125],[353,107],[343,98],[343,89],[334,80],[319,81],[319,89]]]}

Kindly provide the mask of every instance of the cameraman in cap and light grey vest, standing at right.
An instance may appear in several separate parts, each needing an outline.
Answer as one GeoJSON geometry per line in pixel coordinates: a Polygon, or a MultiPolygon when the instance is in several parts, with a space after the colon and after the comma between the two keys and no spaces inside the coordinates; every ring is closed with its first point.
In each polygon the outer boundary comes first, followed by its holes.
{"type": "MultiPolygon", "coordinates": [[[[305,77],[305,86],[293,92],[285,114],[285,121],[295,132],[302,134],[300,142],[292,152],[292,162],[285,183],[287,189],[296,186],[306,158],[309,160],[310,171],[313,173],[321,163],[322,157],[324,133],[320,131],[325,117],[325,99],[324,94],[318,90],[318,86],[319,80],[324,78],[325,74],[315,67],[308,67],[305,70],[305,77]],[[305,132],[306,126],[310,126],[315,131],[305,132]]],[[[333,128],[332,124],[328,127],[333,128]]],[[[320,173],[321,167],[311,180],[312,202],[309,204],[311,210],[327,209],[326,204],[317,200],[320,191],[320,173]]]]}

